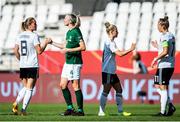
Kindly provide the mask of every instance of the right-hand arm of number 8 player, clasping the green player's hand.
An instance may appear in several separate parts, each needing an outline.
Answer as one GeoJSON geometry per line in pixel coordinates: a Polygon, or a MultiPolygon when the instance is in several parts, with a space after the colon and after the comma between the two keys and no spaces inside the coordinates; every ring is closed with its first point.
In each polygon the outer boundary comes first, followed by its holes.
{"type": "Polygon", "coordinates": [[[52,40],[50,38],[46,38],[43,43],[37,44],[35,46],[35,49],[36,49],[37,53],[42,54],[44,52],[44,50],[46,49],[46,46],[51,42],[52,42],[52,40]]]}

